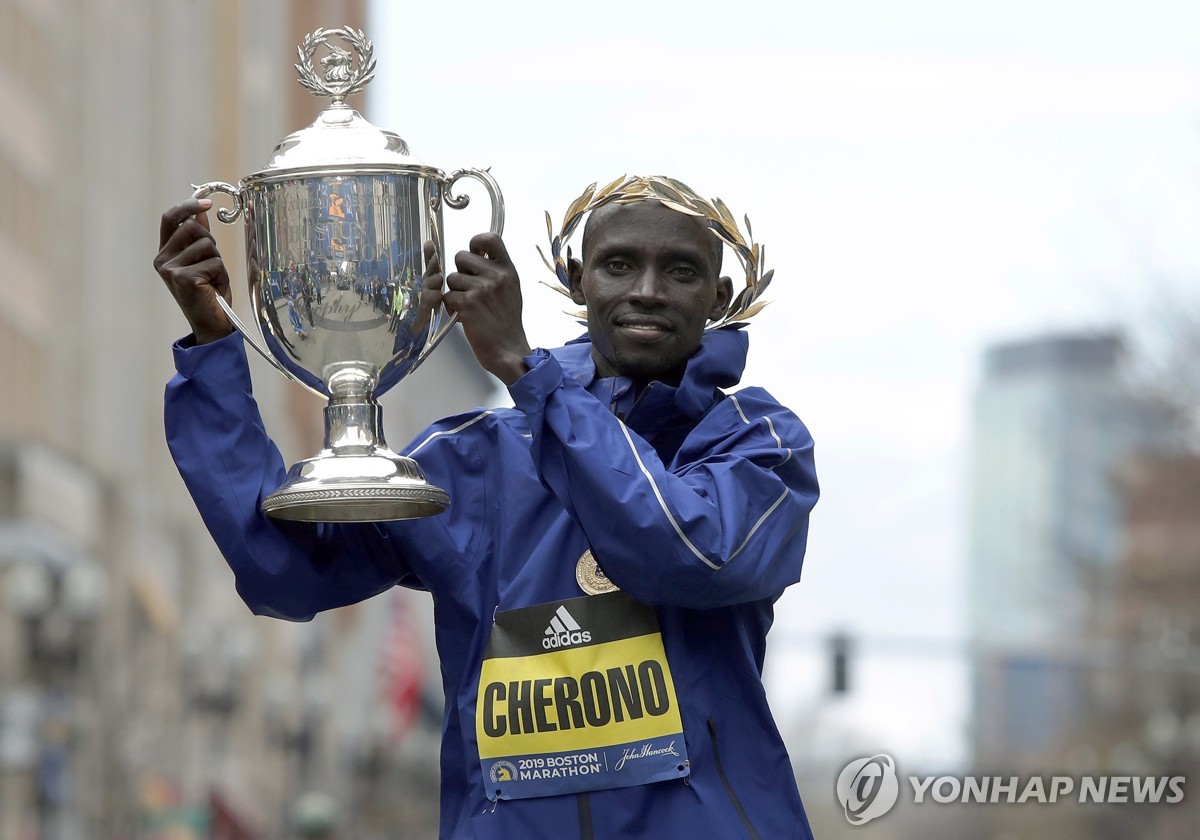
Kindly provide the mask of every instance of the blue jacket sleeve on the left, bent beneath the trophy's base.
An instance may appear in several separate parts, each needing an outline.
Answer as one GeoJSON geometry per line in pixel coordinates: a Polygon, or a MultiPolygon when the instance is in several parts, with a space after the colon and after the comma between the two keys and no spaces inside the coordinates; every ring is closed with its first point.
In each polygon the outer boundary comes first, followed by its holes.
{"type": "Polygon", "coordinates": [[[241,338],[175,346],[167,385],[167,444],[209,533],[263,616],[307,620],[396,583],[419,586],[376,526],[281,522],[260,512],[283,482],[283,460],[250,390],[241,338]]]}

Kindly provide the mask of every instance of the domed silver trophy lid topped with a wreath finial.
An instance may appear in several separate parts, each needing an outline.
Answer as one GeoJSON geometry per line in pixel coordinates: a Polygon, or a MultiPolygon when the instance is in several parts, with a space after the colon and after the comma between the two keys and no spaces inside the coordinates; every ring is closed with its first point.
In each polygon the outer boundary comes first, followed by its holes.
{"type": "Polygon", "coordinates": [[[336,166],[404,166],[425,167],[412,156],[408,144],[397,134],[378,128],[346,104],[346,97],[366,88],[374,78],[374,56],[370,41],[360,30],[318,29],[305,36],[296,48],[300,62],[300,84],[317,96],[330,97],[326,107],[307,128],[283,138],[262,174],[277,174],[288,169],[311,169],[336,166]],[[330,42],[330,36],[346,41],[358,54],[358,66],[350,52],[330,42]],[[324,79],[313,67],[313,53],[325,47],[329,54],[320,59],[324,79]]]}

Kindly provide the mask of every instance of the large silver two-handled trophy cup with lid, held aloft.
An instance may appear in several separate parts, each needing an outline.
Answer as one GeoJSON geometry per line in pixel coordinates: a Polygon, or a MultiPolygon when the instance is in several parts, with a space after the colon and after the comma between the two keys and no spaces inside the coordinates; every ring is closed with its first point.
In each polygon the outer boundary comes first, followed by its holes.
{"type": "Polygon", "coordinates": [[[454,194],[455,184],[482,181],[497,234],[504,199],[487,172],[446,175],[426,166],[400,137],[346,103],[374,76],[372,46],[361,31],[318,29],[298,52],[300,84],[328,96],[329,106],[236,187],[214,181],[193,193],[230,196],[234,206],[217,211],[222,222],[245,215],[258,335],[218,296],[229,320],[281,373],[328,400],[324,449],[289,470],[263,511],[305,522],[437,514],[449,497],[415,461],[388,449],[376,397],[420,365],[454,324],[440,290],[425,283],[422,244],[432,241],[445,265],[442,208],[469,200],[454,194]],[[313,65],[318,48],[326,53],[323,78],[313,65]]]}

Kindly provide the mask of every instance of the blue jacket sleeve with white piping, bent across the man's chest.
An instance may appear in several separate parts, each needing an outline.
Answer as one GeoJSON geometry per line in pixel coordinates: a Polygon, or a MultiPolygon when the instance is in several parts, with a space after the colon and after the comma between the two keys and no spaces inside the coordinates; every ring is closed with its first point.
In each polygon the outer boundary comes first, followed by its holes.
{"type": "Polygon", "coordinates": [[[719,402],[665,464],[548,354],[510,388],[542,482],[605,572],[653,605],[774,599],[799,580],[817,500],[812,438],[761,389],[719,402]]]}

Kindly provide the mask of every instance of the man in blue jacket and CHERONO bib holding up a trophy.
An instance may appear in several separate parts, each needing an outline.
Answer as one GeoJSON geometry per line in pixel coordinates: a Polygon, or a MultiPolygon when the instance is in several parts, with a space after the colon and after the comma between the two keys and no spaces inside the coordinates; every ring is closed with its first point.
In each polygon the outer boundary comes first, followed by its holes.
{"type": "Polygon", "coordinates": [[[761,673],[800,574],[812,440],[766,391],[719,390],[748,340],[706,330],[733,290],[704,220],[653,199],[592,212],[562,271],[588,335],[554,350],[529,346],[504,242],[472,239],[443,299],[515,407],[406,449],[446,512],[307,526],[259,512],[284,466],[215,302],[208,206],[163,215],[155,260],[193,331],[167,390],[172,454],[254,612],[433,594],[442,838],[810,838],[761,673]]]}

